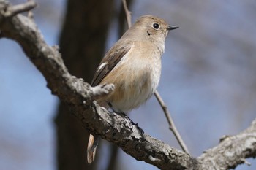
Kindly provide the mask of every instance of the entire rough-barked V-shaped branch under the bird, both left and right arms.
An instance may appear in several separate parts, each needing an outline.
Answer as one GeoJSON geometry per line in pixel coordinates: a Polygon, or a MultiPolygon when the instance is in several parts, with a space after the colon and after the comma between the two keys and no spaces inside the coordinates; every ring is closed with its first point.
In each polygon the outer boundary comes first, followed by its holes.
{"type": "MultiPolygon", "coordinates": [[[[18,42],[31,62],[42,72],[51,92],[68,104],[73,115],[91,134],[101,136],[137,160],[159,169],[229,169],[244,163],[245,158],[255,158],[256,120],[241,134],[226,137],[217,147],[197,159],[148,134],[140,134],[130,120],[99,107],[93,100],[95,90],[82,79],[69,74],[61,54],[56,47],[45,43],[34,21],[23,15],[7,15],[11,7],[7,1],[0,0],[2,36],[18,42]]],[[[97,94],[109,89],[110,86],[99,88],[97,94]]]]}

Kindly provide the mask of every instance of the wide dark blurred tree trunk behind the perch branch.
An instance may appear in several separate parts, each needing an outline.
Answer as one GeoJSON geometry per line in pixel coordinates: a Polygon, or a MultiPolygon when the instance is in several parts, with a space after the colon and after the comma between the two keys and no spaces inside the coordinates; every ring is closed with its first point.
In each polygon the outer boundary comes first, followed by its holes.
{"type": "MultiPolygon", "coordinates": [[[[91,82],[105,50],[108,27],[113,16],[113,0],[68,0],[59,46],[69,72],[91,82]]],[[[58,169],[95,169],[86,162],[89,132],[59,105],[56,116],[58,169]]]]}

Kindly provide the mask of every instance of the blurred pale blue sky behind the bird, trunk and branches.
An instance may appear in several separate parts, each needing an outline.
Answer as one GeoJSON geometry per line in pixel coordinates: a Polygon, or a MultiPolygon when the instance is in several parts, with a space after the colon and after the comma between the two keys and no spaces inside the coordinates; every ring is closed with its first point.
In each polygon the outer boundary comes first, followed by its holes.
{"type": "MultiPolygon", "coordinates": [[[[46,42],[58,45],[64,0],[38,3],[36,23],[46,42]]],[[[256,117],[255,9],[254,1],[230,0],[141,0],[131,8],[132,20],[151,14],[180,26],[167,37],[158,89],[195,157],[256,117]]],[[[115,26],[108,47],[116,42],[115,26]]],[[[53,170],[58,99],[16,42],[1,39],[0,51],[0,168],[53,170]]],[[[178,147],[154,97],[129,116],[147,134],[178,147]]],[[[123,169],[156,169],[120,155],[123,169]]],[[[256,161],[248,161],[252,166],[238,169],[255,169],[256,161]]]]}

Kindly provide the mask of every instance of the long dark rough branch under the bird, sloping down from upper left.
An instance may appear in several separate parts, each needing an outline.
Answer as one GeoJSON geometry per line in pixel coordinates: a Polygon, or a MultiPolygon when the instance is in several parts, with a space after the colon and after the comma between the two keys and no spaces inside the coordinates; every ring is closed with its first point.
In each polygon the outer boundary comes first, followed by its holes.
{"type": "Polygon", "coordinates": [[[88,83],[69,74],[61,54],[55,47],[45,43],[34,22],[23,15],[7,15],[8,8],[7,2],[0,0],[1,33],[20,44],[31,62],[44,75],[48,88],[69,105],[91,134],[113,142],[132,157],[159,169],[188,169],[197,165],[197,161],[186,153],[147,134],[140,134],[130,120],[99,107],[92,100],[95,91],[88,83]]]}

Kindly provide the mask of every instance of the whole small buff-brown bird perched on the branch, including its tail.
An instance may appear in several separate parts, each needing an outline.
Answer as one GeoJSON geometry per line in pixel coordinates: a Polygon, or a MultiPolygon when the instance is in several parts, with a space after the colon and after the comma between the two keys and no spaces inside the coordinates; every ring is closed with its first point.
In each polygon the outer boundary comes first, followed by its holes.
{"type": "MultiPolygon", "coordinates": [[[[99,63],[91,86],[113,84],[115,89],[97,99],[101,107],[127,113],[140,107],[157,89],[161,74],[161,58],[169,25],[154,15],[142,15],[108,50],[99,63]]],[[[87,161],[94,161],[99,137],[90,134],[87,161]]]]}

